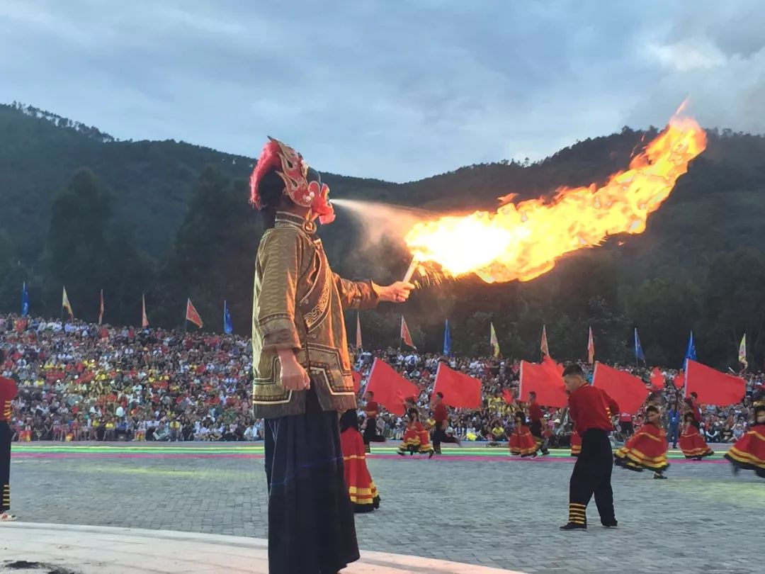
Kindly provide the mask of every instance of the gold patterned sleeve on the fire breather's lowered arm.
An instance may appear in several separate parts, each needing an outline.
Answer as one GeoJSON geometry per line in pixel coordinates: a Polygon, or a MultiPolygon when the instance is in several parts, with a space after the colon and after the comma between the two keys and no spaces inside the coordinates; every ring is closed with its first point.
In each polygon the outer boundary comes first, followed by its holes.
{"type": "Polygon", "coordinates": [[[291,230],[266,233],[258,251],[259,295],[252,321],[263,338],[263,352],[301,348],[295,328],[295,292],[300,277],[301,242],[291,230]]]}

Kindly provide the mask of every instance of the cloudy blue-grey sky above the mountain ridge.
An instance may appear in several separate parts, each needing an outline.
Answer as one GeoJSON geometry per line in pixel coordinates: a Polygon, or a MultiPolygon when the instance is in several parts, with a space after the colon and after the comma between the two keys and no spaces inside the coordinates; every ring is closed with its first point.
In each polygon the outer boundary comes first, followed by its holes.
{"type": "Polygon", "coordinates": [[[409,181],[662,126],[685,96],[765,132],[763,30],[762,0],[0,0],[0,102],[409,181]]]}

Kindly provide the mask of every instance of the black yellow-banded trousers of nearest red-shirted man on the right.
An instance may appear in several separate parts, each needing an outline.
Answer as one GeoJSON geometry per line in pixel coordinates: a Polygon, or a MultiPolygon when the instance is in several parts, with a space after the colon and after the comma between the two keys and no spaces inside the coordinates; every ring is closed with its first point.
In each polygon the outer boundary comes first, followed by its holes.
{"type": "Polygon", "coordinates": [[[569,522],[587,524],[585,510],[594,494],[601,523],[616,523],[614,493],[611,491],[613,468],[614,452],[611,450],[608,433],[601,429],[588,429],[581,437],[581,454],[568,484],[569,522]]]}

